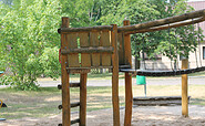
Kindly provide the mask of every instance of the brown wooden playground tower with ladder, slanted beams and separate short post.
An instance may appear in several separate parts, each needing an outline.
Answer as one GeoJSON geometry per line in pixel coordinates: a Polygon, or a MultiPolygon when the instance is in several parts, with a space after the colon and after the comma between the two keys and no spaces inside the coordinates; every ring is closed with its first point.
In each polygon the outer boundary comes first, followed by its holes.
{"type": "MultiPolygon", "coordinates": [[[[132,120],[132,74],[131,71],[131,34],[153,32],[198,23],[205,21],[205,10],[182,15],[131,25],[129,20],[124,27],[116,24],[69,28],[69,18],[62,18],[61,34],[61,81],[62,85],[62,126],[79,123],[86,125],[86,78],[91,69],[110,69],[112,71],[113,125],[120,126],[119,72],[125,73],[125,117],[124,126],[132,120]],[[80,74],[80,83],[70,83],[70,74],[80,74]],[[70,103],[70,88],[80,87],[80,102],[70,103]],[[79,118],[71,120],[71,108],[80,106],[79,118]]],[[[182,69],[187,70],[188,60],[182,61],[182,69]]],[[[187,74],[182,73],[182,115],[188,116],[187,74]]]]}

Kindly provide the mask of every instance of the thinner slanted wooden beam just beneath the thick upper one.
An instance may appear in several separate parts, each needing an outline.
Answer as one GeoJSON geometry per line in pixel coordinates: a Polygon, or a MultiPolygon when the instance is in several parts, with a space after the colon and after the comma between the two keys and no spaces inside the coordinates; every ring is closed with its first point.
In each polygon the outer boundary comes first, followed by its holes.
{"type": "Polygon", "coordinates": [[[161,30],[167,30],[168,28],[180,28],[183,25],[189,25],[189,24],[195,24],[205,21],[205,17],[202,17],[199,19],[195,19],[193,21],[186,21],[186,22],[180,22],[171,25],[162,25],[157,28],[151,28],[151,29],[144,29],[144,30],[136,30],[136,31],[129,31],[125,34],[134,34],[134,33],[145,33],[145,32],[154,32],[154,31],[161,31],[161,30]]]}

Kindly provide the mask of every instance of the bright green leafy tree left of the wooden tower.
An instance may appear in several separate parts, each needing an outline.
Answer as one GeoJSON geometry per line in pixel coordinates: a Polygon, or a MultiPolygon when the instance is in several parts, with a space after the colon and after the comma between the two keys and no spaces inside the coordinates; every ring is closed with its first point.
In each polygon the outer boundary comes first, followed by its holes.
{"type": "Polygon", "coordinates": [[[58,0],[21,0],[19,7],[10,8],[2,18],[1,63],[12,72],[12,76],[3,81],[4,84],[9,81],[10,85],[20,90],[38,88],[37,76],[47,67],[41,61],[43,50],[60,46],[57,33],[61,17],[59,8],[58,0]]]}

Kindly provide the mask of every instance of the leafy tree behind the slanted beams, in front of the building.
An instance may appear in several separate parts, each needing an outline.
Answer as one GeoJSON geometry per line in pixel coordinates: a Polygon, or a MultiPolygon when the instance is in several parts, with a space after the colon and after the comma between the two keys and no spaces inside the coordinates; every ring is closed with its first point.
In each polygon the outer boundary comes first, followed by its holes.
{"type": "MultiPolygon", "coordinates": [[[[112,6],[103,11],[100,22],[122,25],[123,20],[129,19],[131,24],[139,24],[189,11],[193,11],[193,8],[188,7],[185,0],[170,0],[170,2],[167,0],[121,0],[113,1],[112,6]]],[[[197,36],[203,41],[202,30],[194,31],[193,25],[137,33],[131,36],[132,53],[139,60],[141,60],[140,52],[144,51],[150,59],[154,59],[156,54],[163,54],[176,61],[177,54],[188,57],[188,53],[195,51],[197,36]]]]}

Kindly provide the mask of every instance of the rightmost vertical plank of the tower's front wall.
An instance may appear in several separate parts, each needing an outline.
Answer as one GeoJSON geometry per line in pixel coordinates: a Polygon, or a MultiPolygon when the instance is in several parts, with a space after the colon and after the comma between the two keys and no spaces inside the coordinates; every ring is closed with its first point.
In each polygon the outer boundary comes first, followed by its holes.
{"type": "MultiPolygon", "coordinates": [[[[102,31],[100,43],[104,48],[111,46],[111,32],[110,31],[102,31]]],[[[107,53],[101,53],[102,56],[102,66],[111,66],[111,54],[107,53]]]]}

